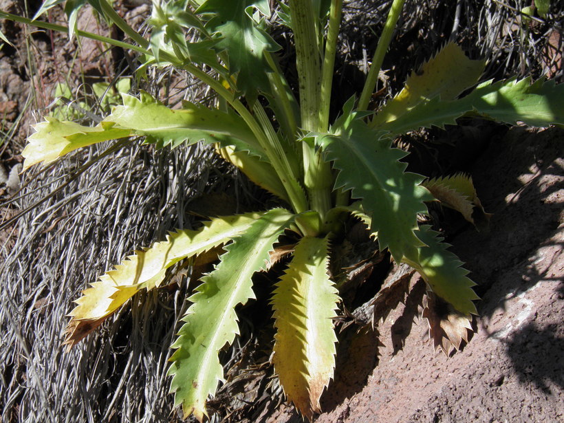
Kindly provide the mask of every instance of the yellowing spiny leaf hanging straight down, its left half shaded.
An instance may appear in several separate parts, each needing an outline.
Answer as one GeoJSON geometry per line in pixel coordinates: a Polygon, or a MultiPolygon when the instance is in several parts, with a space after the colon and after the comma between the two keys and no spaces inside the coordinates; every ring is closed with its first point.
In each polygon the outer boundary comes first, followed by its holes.
{"type": "Polygon", "coordinates": [[[302,238],[272,298],[274,371],[288,400],[310,420],[321,411],[319,399],[335,367],[332,319],[339,298],[327,275],[328,263],[327,238],[302,238]]]}

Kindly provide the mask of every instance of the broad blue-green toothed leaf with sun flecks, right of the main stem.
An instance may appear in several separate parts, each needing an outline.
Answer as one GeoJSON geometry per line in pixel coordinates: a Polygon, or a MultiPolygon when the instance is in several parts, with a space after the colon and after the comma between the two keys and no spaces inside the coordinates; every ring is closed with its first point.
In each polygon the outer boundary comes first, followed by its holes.
{"type": "Polygon", "coordinates": [[[423,177],[405,172],[400,159],[406,153],[391,148],[391,141],[359,116],[345,109],[333,133],[317,135],[316,143],[339,171],[335,188],[350,189],[352,197],[362,199],[365,212],[372,216],[371,231],[378,232],[380,250],[389,248],[399,263],[409,250],[422,246],[413,231],[417,214],[427,212],[424,202],[433,197],[419,186],[423,177]]]}

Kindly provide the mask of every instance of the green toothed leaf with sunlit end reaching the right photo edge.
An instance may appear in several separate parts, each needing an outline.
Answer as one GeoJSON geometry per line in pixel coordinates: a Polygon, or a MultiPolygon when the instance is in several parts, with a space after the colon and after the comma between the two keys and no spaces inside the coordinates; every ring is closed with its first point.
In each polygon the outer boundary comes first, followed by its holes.
{"type": "Polygon", "coordinates": [[[444,127],[456,124],[466,113],[499,120],[509,124],[518,121],[532,127],[564,124],[564,84],[531,78],[511,78],[492,84],[479,85],[468,96],[445,101],[440,98],[421,102],[397,120],[376,126],[393,134],[413,131],[421,127],[444,127]]]}

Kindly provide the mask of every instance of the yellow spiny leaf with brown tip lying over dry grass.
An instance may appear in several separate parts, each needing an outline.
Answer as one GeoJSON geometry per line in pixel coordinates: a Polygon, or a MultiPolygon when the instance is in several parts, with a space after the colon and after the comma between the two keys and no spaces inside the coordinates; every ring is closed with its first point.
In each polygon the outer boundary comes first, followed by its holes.
{"type": "Polygon", "coordinates": [[[158,287],[167,268],[187,257],[193,257],[227,243],[249,228],[259,218],[258,213],[218,217],[204,223],[199,230],[178,230],[166,241],[154,243],[151,248],[135,252],[116,268],[100,276],[91,288],[83,291],[76,301],[77,307],[70,312],[72,320],[67,328],[65,343],[72,347],[87,336],[92,322],[96,326],[118,310],[142,288],[158,287]]]}

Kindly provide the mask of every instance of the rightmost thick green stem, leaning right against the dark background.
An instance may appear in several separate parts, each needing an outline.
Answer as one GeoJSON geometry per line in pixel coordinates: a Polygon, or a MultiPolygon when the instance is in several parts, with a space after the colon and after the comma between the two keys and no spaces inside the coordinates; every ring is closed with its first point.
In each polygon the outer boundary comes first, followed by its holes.
{"type": "Polygon", "coordinates": [[[360,100],[358,101],[359,110],[368,109],[370,98],[376,88],[376,83],[378,82],[378,75],[380,74],[380,69],[382,68],[384,56],[386,55],[390,45],[391,36],[395,30],[395,24],[398,23],[398,19],[400,19],[400,15],[402,14],[404,3],[405,0],[393,0],[388,14],[388,19],[386,19],[386,24],[384,25],[384,30],[382,30],[382,35],[380,35],[380,39],[378,40],[376,52],[374,52],[374,58],[372,59],[372,65],[368,72],[365,87],[362,89],[362,94],[360,95],[360,100]]]}

